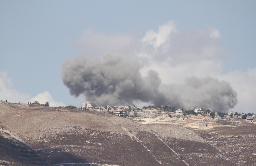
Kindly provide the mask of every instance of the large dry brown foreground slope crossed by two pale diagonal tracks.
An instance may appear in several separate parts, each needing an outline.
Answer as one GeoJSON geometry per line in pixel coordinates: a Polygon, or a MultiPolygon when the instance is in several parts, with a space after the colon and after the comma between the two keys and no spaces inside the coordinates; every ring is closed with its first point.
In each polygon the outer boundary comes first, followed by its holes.
{"type": "Polygon", "coordinates": [[[175,124],[142,125],[103,112],[5,102],[0,102],[0,122],[40,150],[50,164],[235,165],[195,133],[175,124]]]}

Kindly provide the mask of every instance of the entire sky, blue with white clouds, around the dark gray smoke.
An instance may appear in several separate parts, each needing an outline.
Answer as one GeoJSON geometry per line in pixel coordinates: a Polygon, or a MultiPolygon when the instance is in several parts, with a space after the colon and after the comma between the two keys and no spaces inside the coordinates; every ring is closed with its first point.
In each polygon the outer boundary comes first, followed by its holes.
{"type": "Polygon", "coordinates": [[[156,70],[163,83],[228,81],[238,94],[234,111],[256,112],[255,7],[253,0],[0,0],[0,99],[81,106],[84,97],[62,83],[63,61],[113,53],[138,58],[141,73],[156,70]]]}

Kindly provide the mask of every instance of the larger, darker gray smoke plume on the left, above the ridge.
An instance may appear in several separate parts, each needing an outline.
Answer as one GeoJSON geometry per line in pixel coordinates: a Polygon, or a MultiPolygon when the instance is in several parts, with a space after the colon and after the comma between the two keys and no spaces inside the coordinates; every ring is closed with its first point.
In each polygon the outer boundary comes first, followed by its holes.
{"type": "Polygon", "coordinates": [[[122,56],[103,58],[75,57],[62,64],[62,80],[70,94],[84,94],[98,105],[128,105],[136,100],[152,101],[158,93],[161,80],[150,70],[142,77],[142,65],[122,56]]]}

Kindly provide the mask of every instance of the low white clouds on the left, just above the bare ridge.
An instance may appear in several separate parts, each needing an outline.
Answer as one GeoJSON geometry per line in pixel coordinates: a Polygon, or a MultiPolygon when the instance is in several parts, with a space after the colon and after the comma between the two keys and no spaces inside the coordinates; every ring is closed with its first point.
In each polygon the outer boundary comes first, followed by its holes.
{"type": "Polygon", "coordinates": [[[0,71],[0,100],[7,100],[8,102],[34,102],[39,101],[40,104],[45,104],[46,102],[50,103],[50,106],[58,107],[58,106],[64,106],[65,104],[62,102],[56,102],[51,94],[48,91],[45,91],[43,93],[39,93],[35,97],[32,97],[26,93],[18,92],[16,89],[12,88],[13,82],[12,79],[8,77],[7,72],[0,71]]]}

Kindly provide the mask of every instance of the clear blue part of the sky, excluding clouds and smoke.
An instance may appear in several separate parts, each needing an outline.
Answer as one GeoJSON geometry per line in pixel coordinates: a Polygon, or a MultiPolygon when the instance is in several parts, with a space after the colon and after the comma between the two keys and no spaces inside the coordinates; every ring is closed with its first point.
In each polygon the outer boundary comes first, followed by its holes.
{"type": "MultiPolygon", "coordinates": [[[[62,83],[61,64],[66,58],[85,53],[74,44],[85,30],[94,27],[94,32],[99,34],[144,36],[147,30],[157,31],[159,26],[172,20],[180,32],[193,33],[209,27],[217,29],[225,56],[220,58],[223,63],[221,76],[216,77],[233,77],[236,75],[234,72],[246,75],[248,70],[256,67],[255,6],[255,1],[238,0],[1,0],[0,71],[8,74],[5,79],[11,78],[12,85],[5,81],[5,86],[17,93],[28,94],[32,98],[48,91],[57,102],[79,106],[84,98],[74,98],[69,94],[62,83]]],[[[250,79],[254,80],[254,74],[253,70],[247,75],[253,75],[250,79]]],[[[251,91],[255,92],[254,89],[251,91]]],[[[250,99],[255,93],[245,96],[250,99]]],[[[6,96],[2,94],[0,98],[5,99],[6,96]]],[[[251,106],[247,110],[252,112],[254,108],[251,106]]]]}

